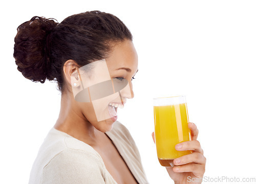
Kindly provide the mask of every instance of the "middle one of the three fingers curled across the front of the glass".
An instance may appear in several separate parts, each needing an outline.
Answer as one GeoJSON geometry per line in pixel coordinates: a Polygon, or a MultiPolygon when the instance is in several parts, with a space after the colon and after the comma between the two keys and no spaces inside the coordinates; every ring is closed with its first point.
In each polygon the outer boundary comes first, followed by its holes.
{"type": "Polygon", "coordinates": [[[201,153],[194,152],[188,155],[181,156],[174,160],[174,164],[176,166],[180,166],[188,163],[205,164],[206,158],[201,153]]]}

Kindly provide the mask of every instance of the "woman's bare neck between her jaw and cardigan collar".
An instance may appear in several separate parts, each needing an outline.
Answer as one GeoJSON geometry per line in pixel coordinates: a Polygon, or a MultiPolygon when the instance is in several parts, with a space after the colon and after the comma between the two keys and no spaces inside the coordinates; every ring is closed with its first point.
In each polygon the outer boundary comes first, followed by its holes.
{"type": "Polygon", "coordinates": [[[59,117],[54,128],[89,145],[94,145],[97,135],[102,133],[84,117],[82,111],[75,105],[74,98],[68,94],[61,95],[59,117]]]}

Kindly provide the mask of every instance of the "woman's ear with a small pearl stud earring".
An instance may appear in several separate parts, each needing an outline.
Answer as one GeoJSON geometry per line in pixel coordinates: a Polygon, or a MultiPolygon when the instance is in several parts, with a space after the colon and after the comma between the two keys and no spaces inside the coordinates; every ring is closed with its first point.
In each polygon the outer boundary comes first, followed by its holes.
{"type": "Polygon", "coordinates": [[[67,60],[63,66],[63,74],[67,82],[70,85],[72,85],[72,87],[78,87],[80,84],[77,70],[78,70],[78,64],[71,59],[67,60]]]}

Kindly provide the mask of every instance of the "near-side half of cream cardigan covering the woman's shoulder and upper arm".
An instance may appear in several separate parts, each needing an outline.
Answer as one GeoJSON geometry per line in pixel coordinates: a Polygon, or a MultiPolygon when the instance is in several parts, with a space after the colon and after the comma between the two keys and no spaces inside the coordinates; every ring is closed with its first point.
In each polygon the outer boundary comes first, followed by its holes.
{"type": "Polygon", "coordinates": [[[52,128],[38,151],[30,183],[105,183],[109,177],[90,145],[52,128]]]}

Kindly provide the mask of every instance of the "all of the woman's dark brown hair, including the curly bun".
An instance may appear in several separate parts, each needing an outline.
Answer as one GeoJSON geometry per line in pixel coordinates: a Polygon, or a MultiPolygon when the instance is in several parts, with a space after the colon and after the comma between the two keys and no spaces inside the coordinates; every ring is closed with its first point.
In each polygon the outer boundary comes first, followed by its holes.
{"type": "Polygon", "coordinates": [[[34,16],[17,28],[14,58],[17,69],[29,80],[57,81],[63,93],[63,65],[69,59],[78,66],[104,59],[114,42],[132,40],[132,34],[116,16],[88,11],[64,19],[34,16]]]}

